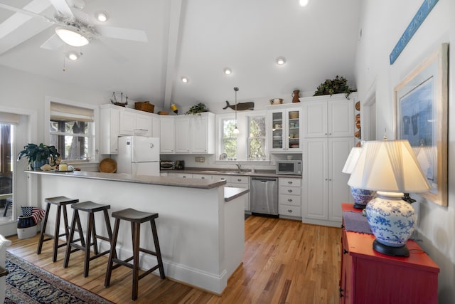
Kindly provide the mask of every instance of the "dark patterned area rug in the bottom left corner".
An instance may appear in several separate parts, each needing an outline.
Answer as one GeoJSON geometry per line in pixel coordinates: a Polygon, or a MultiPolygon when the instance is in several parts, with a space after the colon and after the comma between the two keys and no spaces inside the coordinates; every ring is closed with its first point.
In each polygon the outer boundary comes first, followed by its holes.
{"type": "Polygon", "coordinates": [[[111,303],[6,251],[5,303],[111,303]]]}

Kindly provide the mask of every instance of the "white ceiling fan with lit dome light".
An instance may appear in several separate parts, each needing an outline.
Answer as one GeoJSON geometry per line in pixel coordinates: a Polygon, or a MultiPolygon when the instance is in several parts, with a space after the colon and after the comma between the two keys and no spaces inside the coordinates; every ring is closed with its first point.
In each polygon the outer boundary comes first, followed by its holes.
{"type": "MultiPolygon", "coordinates": [[[[67,43],[70,46],[85,46],[100,36],[108,38],[126,39],[130,41],[146,42],[145,31],[133,28],[119,28],[115,26],[101,26],[92,22],[89,15],[82,11],[85,8],[83,0],[48,0],[55,9],[53,17],[38,14],[31,10],[19,9],[8,4],[1,4],[0,8],[40,18],[55,25],[55,34],[45,41],[41,48],[53,50],[67,43]]],[[[43,2],[33,0],[32,2],[43,2]]],[[[35,3],[36,4],[36,3],[35,3]]],[[[47,4],[48,5],[48,4],[47,4]]],[[[29,7],[29,6],[26,6],[29,7]]],[[[31,6],[33,7],[33,6],[31,6]]],[[[23,23],[27,20],[24,19],[23,23]]]]}

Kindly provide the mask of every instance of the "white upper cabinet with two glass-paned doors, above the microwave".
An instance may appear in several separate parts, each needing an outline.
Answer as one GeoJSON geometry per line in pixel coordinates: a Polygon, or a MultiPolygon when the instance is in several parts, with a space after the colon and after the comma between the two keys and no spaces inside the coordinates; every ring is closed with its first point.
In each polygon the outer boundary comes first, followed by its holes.
{"type": "Polygon", "coordinates": [[[301,152],[301,108],[274,105],[267,112],[269,151],[301,152]]]}

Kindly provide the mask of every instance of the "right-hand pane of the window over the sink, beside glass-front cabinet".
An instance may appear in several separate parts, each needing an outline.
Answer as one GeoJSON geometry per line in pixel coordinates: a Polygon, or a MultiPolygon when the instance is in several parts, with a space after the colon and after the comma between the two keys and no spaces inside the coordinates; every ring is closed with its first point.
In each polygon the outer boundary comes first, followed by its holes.
{"type": "Polygon", "coordinates": [[[265,117],[248,117],[248,159],[264,160],[265,151],[265,117]]]}

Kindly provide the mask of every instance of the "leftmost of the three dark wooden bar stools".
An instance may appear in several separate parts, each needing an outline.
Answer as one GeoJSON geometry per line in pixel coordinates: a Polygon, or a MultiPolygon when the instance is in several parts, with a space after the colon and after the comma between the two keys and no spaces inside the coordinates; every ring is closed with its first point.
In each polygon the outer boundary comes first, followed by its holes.
{"type": "MultiPolygon", "coordinates": [[[[56,197],[48,197],[47,199],[44,199],[44,201],[47,203],[47,206],[45,207],[45,216],[44,216],[44,221],[43,221],[43,227],[41,228],[40,240],[38,241],[38,249],[36,249],[36,254],[41,254],[41,249],[43,248],[43,242],[54,240],[52,261],[55,262],[55,261],[57,261],[58,248],[60,248],[62,246],[66,246],[66,243],[62,243],[60,245],[58,244],[58,237],[65,236],[66,237],[65,241],[68,241],[69,231],[68,231],[68,214],[66,212],[66,205],[77,203],[79,201],[79,199],[69,199],[66,196],[56,196],[56,197]],[[57,206],[57,216],[55,217],[55,230],[54,230],[54,235],[52,237],[50,237],[48,239],[44,239],[45,226],[48,224],[49,210],[50,210],[51,204],[57,206]],[[65,224],[65,233],[64,234],[58,234],[60,231],[60,213],[61,213],[60,211],[63,211],[63,221],[65,224]]],[[[48,235],[48,236],[50,236],[50,235],[48,235]]]]}

